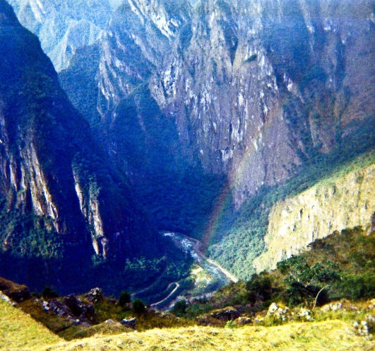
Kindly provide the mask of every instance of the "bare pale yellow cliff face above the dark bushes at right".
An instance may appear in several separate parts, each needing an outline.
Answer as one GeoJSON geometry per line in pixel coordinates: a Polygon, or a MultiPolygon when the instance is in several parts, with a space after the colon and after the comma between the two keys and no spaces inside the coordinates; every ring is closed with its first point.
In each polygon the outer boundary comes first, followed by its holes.
{"type": "Polygon", "coordinates": [[[362,226],[374,231],[375,165],[328,178],[280,201],[271,209],[266,253],[254,260],[256,270],[275,269],[280,260],[306,250],[309,243],[333,231],[362,226]]]}

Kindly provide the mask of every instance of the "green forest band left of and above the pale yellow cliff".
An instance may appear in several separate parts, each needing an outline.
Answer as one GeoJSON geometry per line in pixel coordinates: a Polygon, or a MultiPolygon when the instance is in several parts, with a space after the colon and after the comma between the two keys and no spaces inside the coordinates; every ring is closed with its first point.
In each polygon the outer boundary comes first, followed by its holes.
{"type": "Polygon", "coordinates": [[[302,171],[284,184],[262,188],[237,210],[229,194],[213,226],[208,255],[236,277],[249,280],[255,272],[253,260],[265,251],[263,238],[267,232],[268,214],[276,202],[297,196],[314,185],[340,179],[373,163],[375,151],[372,149],[359,155],[356,151],[343,150],[342,154],[336,151],[309,161],[302,171]]]}

